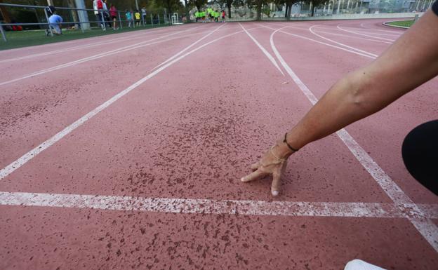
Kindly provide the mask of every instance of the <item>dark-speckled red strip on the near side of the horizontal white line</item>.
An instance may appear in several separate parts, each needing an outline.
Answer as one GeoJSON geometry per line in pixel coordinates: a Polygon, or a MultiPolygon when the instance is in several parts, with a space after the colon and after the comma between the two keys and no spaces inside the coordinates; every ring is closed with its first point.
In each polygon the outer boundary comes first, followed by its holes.
{"type": "Polygon", "coordinates": [[[357,257],[385,269],[437,264],[400,219],[0,208],[6,269],[343,269],[357,257]]]}

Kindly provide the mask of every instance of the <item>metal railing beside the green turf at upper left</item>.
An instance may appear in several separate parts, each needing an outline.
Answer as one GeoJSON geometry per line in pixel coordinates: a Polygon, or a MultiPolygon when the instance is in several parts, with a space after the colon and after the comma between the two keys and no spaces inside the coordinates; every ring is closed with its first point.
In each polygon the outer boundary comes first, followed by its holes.
{"type": "MultiPolygon", "coordinates": [[[[100,28],[105,31],[107,29],[107,25],[112,25],[112,23],[114,22],[114,20],[110,19],[110,11],[109,10],[95,10],[95,9],[89,9],[89,8],[66,8],[66,7],[59,7],[56,6],[55,10],[56,11],[69,11],[70,13],[74,12],[76,13],[75,15],[72,15],[72,17],[76,17],[79,18],[79,20],[72,20],[72,21],[67,21],[67,22],[60,22],[60,23],[56,23],[56,24],[51,24],[48,20],[48,18],[50,17],[48,15],[47,12],[47,6],[32,6],[32,5],[19,5],[19,4],[6,4],[6,3],[0,3],[0,6],[6,6],[6,7],[10,7],[10,8],[25,8],[25,9],[33,9],[35,12],[36,11],[44,11],[44,20],[42,20],[41,22],[13,22],[13,23],[5,23],[5,22],[1,22],[0,21],[0,32],[1,32],[1,36],[3,37],[4,41],[7,41],[6,39],[6,30],[5,27],[13,27],[13,26],[28,26],[28,25],[37,25],[39,27],[44,27],[44,29],[51,29],[51,26],[53,25],[77,25],[78,28],[81,29],[81,32],[85,32],[86,29],[91,29],[91,24],[97,24],[98,27],[100,26],[100,28]],[[88,12],[93,12],[93,15],[95,15],[95,18],[97,20],[88,20],[88,12]],[[97,14],[96,14],[97,12],[97,14]],[[97,16],[99,15],[99,17],[97,16]]],[[[148,20],[147,15],[146,14],[141,14],[140,13],[140,20],[135,20],[134,19],[134,13],[132,11],[128,11],[128,13],[131,13],[131,20],[122,20],[122,14],[124,12],[123,11],[117,11],[117,25],[119,25],[120,29],[123,29],[124,27],[124,23],[126,23],[128,25],[128,27],[147,27],[147,25],[171,25],[172,23],[172,19],[171,19],[171,15],[160,15],[160,14],[155,14],[152,15],[150,14],[150,20],[148,20]],[[162,20],[160,20],[162,19],[162,20]]],[[[38,16],[36,14],[36,16],[38,16]]],[[[69,17],[69,16],[65,16],[65,17],[69,17]]],[[[126,13],[125,13],[125,17],[126,17],[126,13]]],[[[36,18],[37,20],[39,18],[36,18]]],[[[51,36],[53,36],[53,32],[49,31],[51,36]]]]}

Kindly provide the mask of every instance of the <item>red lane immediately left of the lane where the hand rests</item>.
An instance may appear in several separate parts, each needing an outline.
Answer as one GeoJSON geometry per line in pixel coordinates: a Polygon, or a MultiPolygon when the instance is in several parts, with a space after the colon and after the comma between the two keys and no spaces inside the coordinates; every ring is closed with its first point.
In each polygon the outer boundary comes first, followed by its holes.
{"type": "Polygon", "coordinates": [[[3,167],[11,163],[196,40],[197,36],[187,36],[178,43],[127,51],[121,53],[121,58],[101,58],[88,65],[81,64],[82,68],[74,69],[73,73],[61,69],[57,76],[44,74],[38,81],[23,81],[9,89],[0,98],[0,144],[4,149],[0,163],[3,167]],[[96,72],[106,67],[112,67],[111,72],[110,69],[96,72]]]}

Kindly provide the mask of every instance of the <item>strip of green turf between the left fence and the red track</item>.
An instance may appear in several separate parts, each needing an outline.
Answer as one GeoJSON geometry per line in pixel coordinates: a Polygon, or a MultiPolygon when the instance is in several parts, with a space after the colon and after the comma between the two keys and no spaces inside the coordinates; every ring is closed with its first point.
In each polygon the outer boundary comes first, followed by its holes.
{"type": "Polygon", "coordinates": [[[6,39],[8,41],[4,41],[1,38],[0,34],[0,50],[7,50],[11,48],[22,48],[27,46],[35,46],[46,43],[54,43],[60,41],[69,41],[73,39],[85,39],[93,36],[103,36],[107,34],[116,34],[116,33],[124,33],[124,32],[133,32],[144,29],[151,29],[157,27],[165,27],[168,25],[147,25],[147,27],[137,27],[137,28],[128,28],[124,27],[123,29],[113,30],[112,28],[108,28],[107,31],[102,31],[102,29],[91,29],[86,30],[84,33],[81,30],[65,30],[62,29],[62,35],[60,36],[46,36],[44,30],[29,30],[29,31],[7,31],[6,39]]]}

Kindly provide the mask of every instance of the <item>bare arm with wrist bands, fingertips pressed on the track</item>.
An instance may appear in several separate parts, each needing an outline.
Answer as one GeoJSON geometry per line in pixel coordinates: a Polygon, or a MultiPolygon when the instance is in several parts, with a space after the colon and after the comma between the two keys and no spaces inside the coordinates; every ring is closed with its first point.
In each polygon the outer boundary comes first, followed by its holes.
{"type": "MultiPolygon", "coordinates": [[[[336,82],[321,100],[287,133],[287,142],[300,149],[310,142],[363,119],[438,74],[438,16],[427,11],[379,58],[336,82]]],[[[286,159],[293,154],[282,136],[258,163],[249,182],[272,175],[272,195],[281,187],[286,159]],[[283,161],[282,161],[283,160],[283,161]]]]}

